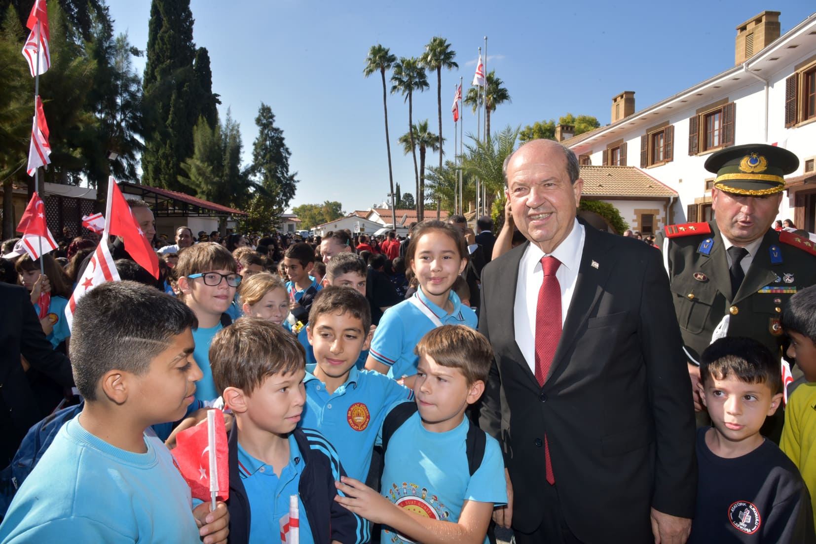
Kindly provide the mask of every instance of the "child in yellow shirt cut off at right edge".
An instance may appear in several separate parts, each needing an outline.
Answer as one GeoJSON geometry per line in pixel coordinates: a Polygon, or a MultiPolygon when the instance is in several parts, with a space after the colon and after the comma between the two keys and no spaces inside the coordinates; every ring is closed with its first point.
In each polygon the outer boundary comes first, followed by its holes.
{"type": "MultiPolygon", "coordinates": [[[[779,448],[791,458],[808,486],[811,502],[816,496],[816,286],[800,290],[782,311],[782,328],[790,338],[787,356],[796,359],[803,383],[785,407],[785,427],[779,448]]],[[[814,503],[816,518],[816,503],[814,503]]]]}

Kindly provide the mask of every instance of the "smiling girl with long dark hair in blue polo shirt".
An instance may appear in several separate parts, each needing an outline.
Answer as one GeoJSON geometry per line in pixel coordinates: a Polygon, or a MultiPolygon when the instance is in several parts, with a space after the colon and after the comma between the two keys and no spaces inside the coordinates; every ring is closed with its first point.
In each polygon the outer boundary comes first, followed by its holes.
{"type": "Polygon", "coordinates": [[[454,227],[425,221],[416,228],[406,250],[406,270],[419,281],[410,299],[388,308],[371,340],[366,369],[377,370],[411,387],[419,340],[441,325],[468,325],[477,319],[463,306],[452,287],[468,263],[468,247],[454,227]]]}

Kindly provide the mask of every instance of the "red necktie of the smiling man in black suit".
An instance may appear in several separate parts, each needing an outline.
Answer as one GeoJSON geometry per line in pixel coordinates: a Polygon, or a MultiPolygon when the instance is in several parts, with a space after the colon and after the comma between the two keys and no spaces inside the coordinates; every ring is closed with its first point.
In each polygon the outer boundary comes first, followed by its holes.
{"type": "MultiPolygon", "coordinates": [[[[544,272],[539,302],[535,308],[535,379],[543,387],[547,373],[556,354],[558,340],[561,338],[561,285],[556,271],[561,261],[555,257],[542,257],[541,268],[544,272]]],[[[548,484],[555,484],[550,461],[550,447],[547,435],[544,435],[544,465],[547,469],[548,484]]]]}

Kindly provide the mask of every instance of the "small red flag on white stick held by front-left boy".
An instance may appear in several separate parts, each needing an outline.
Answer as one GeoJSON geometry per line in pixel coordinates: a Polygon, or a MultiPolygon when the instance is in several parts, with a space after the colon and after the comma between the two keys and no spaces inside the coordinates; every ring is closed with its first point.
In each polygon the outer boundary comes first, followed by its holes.
{"type": "MultiPolygon", "coordinates": [[[[224,413],[215,409],[215,475],[218,478],[218,499],[229,498],[229,449],[227,429],[224,427],[224,413]]],[[[210,444],[207,422],[204,419],[195,427],[181,431],[175,437],[172,450],[175,466],[190,486],[194,498],[209,501],[210,494],[210,444]]]]}

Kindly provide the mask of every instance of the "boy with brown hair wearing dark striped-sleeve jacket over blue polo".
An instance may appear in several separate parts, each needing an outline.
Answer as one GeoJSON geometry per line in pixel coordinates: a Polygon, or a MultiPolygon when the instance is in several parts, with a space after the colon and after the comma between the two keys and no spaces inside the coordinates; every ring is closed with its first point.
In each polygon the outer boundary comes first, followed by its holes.
{"type": "Polygon", "coordinates": [[[229,433],[230,542],[273,542],[299,502],[300,542],[365,542],[365,522],[333,499],[345,475],[335,449],[311,429],[295,429],[304,410],[304,351],[260,317],[220,331],[210,347],[213,378],[235,414],[229,433]]]}

